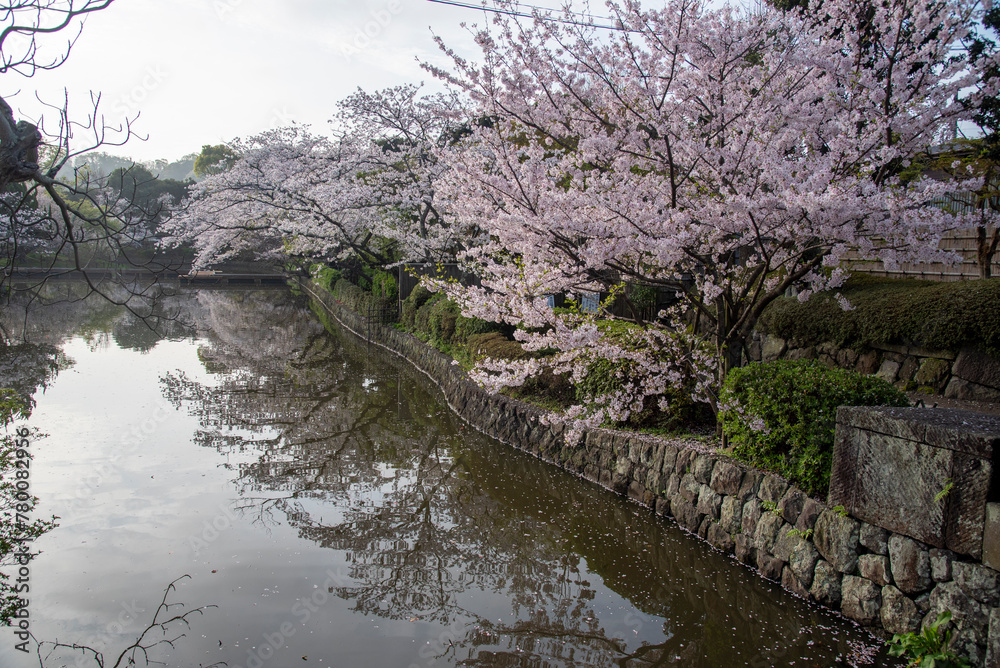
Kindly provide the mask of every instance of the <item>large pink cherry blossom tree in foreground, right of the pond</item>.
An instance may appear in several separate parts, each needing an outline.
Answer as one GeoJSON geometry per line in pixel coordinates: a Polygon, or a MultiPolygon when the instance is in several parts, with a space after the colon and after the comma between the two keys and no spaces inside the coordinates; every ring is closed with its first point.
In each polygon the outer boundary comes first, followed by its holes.
{"type": "Polygon", "coordinates": [[[487,360],[480,381],[550,369],[579,385],[610,364],[611,387],[570,409],[577,424],[624,419],[670,387],[714,404],[789,288],[836,289],[851,253],[890,267],[949,259],[938,239],[957,221],[926,206],[947,184],[896,174],[969,113],[975,2],[865,5],[865,30],[845,28],[853,0],[826,0],[821,20],[697,0],[607,6],[618,30],[498,16],[475,33],[481,62],[442,44],[453,66],[427,66],[491,120],[441,187],[456,224],[490,236],[463,255],[483,285],[437,287],[466,315],[516,325],[527,350],[556,351],[487,360]],[[606,314],[547,299],[602,293],[606,305],[630,283],[679,306],[622,336],[606,314]]]}

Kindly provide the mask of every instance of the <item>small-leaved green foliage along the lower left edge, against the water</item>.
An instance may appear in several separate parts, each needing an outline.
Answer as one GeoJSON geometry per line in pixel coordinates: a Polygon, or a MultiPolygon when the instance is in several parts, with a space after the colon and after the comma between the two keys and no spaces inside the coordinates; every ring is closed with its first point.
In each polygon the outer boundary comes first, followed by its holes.
{"type": "MultiPolygon", "coordinates": [[[[19,546],[26,546],[56,526],[55,517],[29,520],[38,499],[25,498],[23,492],[18,496],[17,482],[27,475],[31,464],[30,444],[37,432],[24,427],[12,432],[10,428],[15,420],[26,418],[28,414],[28,405],[16,392],[0,390],[0,423],[5,432],[0,436],[0,566],[3,567],[22,565],[15,554],[20,551],[19,546]],[[23,447],[22,439],[27,439],[29,447],[23,447]]],[[[30,552],[28,555],[29,558],[34,556],[30,552]]],[[[9,624],[11,616],[22,607],[15,585],[9,576],[0,573],[0,624],[9,624]]]]}

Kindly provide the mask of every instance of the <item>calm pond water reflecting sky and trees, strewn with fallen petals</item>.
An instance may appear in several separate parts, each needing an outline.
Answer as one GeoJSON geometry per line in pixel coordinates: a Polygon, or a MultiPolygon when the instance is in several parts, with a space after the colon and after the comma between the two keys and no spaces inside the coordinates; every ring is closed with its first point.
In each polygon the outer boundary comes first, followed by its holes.
{"type": "MultiPolygon", "coordinates": [[[[111,666],[182,578],[160,620],[216,607],[147,634],[184,634],[148,651],[177,667],[826,667],[877,645],[470,430],[424,376],[285,290],[158,309],[156,331],[96,301],[5,314],[34,344],[2,364],[47,434],[32,492],[60,517],[31,564],[38,639],[111,666]]],[[[0,635],[0,666],[38,665],[0,635]]]]}

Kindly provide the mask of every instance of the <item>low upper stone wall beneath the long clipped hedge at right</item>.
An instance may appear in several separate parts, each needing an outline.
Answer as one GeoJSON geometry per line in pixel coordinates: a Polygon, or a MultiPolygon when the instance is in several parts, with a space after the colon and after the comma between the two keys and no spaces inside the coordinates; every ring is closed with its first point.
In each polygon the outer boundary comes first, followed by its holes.
{"type": "Polygon", "coordinates": [[[1000,401],[1000,359],[975,348],[953,352],[887,345],[857,351],[835,343],[803,346],[795,340],[754,332],[749,357],[754,362],[816,359],[829,366],[875,374],[905,390],[953,399],[1000,401]]]}

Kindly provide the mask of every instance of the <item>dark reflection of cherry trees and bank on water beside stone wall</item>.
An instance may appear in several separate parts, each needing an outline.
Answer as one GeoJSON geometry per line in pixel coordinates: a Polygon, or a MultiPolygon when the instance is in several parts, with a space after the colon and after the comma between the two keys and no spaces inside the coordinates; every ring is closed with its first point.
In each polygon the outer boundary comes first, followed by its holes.
{"type": "Polygon", "coordinates": [[[353,610],[458,624],[424,658],[825,666],[836,654],[830,643],[842,641],[812,628],[830,623],[821,613],[809,618],[602,490],[460,430],[408,365],[333,340],[291,304],[226,293],[199,301],[215,329],[199,355],[218,377],[168,374],[166,395],[199,418],[202,445],[239,462],[245,512],[261,522],[279,513],[346,554],[353,582],[334,593],[353,610]],[[581,572],[583,560],[596,575],[581,572]],[[610,609],[613,597],[587,577],[628,607],[610,609]],[[627,614],[631,605],[638,613],[627,614]],[[762,634],[778,640],[762,647],[762,634]]]}

